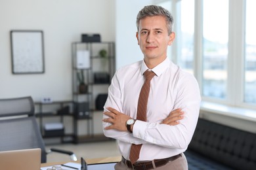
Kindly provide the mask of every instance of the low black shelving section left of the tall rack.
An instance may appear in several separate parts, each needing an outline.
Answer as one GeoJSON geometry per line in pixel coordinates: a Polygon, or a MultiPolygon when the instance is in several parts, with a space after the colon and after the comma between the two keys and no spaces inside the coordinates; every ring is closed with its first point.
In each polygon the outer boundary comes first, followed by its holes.
{"type": "Polygon", "coordinates": [[[36,102],[35,116],[39,121],[39,129],[43,138],[60,137],[62,143],[74,141],[74,129],[66,128],[64,118],[73,121],[73,101],[36,102]]]}

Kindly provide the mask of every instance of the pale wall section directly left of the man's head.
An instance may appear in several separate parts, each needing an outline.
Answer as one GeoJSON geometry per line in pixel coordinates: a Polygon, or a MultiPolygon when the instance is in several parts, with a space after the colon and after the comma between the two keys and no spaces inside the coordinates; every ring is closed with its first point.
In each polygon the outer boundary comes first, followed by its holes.
{"type": "Polygon", "coordinates": [[[149,0],[116,0],[116,69],[143,58],[136,39],[136,18],[149,0]]]}

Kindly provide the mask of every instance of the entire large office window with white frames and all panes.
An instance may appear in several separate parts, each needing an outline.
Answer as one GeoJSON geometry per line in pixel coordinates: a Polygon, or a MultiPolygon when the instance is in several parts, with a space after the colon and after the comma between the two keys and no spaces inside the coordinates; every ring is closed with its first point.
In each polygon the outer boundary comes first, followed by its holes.
{"type": "Polygon", "coordinates": [[[170,59],[194,73],[203,101],[256,109],[256,1],[159,0],[158,5],[175,19],[170,59]]]}

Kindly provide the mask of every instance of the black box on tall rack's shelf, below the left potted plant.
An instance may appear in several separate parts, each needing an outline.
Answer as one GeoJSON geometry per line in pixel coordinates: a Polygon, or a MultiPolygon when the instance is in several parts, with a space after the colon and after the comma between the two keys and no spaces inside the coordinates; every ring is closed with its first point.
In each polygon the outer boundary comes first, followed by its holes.
{"type": "Polygon", "coordinates": [[[89,102],[75,102],[74,116],[75,118],[90,118],[89,102]]]}

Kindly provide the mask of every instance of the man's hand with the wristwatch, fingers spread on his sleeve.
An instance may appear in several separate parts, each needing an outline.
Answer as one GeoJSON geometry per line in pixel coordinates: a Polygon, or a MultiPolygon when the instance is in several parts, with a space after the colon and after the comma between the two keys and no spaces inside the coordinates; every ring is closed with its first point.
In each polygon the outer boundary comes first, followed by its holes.
{"type": "Polygon", "coordinates": [[[105,127],[105,129],[106,130],[116,129],[118,131],[127,131],[126,122],[131,117],[117,111],[116,109],[113,109],[112,107],[108,107],[107,109],[110,112],[103,112],[103,114],[105,114],[106,116],[109,116],[109,118],[105,118],[102,121],[108,122],[112,125],[105,127]]]}

